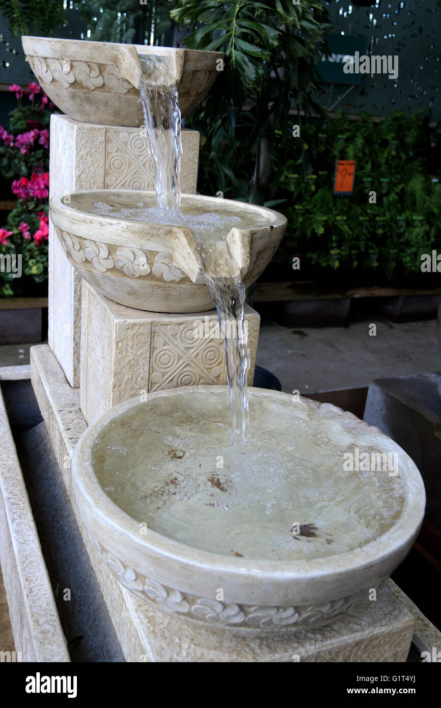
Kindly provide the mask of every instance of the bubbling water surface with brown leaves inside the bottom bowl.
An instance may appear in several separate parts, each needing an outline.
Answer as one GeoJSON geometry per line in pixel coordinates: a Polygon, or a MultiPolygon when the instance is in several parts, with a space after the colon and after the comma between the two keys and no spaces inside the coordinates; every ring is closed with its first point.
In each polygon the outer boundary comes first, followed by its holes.
{"type": "MultiPolygon", "coordinates": [[[[251,559],[340,554],[396,523],[406,484],[345,472],[344,453],[360,446],[351,433],[302,400],[249,398],[248,439],[233,444],[225,392],[163,396],[113,418],[92,455],[105,493],[161,535],[251,559]]],[[[368,440],[362,451],[376,449],[368,440]]]]}

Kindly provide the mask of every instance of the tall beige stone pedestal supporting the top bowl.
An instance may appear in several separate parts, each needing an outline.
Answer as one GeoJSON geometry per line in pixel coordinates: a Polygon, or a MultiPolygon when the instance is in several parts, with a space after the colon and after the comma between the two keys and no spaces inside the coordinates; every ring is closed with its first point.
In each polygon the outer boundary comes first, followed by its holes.
{"type": "MultiPolygon", "coordinates": [[[[199,133],[182,132],[181,188],[194,193],[199,133]]],[[[73,190],[154,188],[149,142],[139,128],[104,126],[52,115],[50,197],[73,190]]],[[[81,278],[49,223],[49,346],[69,384],[79,386],[81,278]]]]}

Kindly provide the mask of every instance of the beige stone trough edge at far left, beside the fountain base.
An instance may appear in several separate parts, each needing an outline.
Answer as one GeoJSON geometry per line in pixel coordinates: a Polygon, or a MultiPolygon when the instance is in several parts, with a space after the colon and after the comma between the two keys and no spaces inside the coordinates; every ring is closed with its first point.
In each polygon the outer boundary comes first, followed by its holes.
{"type": "MultiPolygon", "coordinates": [[[[69,660],[8,416],[0,394],[0,562],[23,661],[69,660]]],[[[0,651],[8,648],[0,646],[0,651]]]]}

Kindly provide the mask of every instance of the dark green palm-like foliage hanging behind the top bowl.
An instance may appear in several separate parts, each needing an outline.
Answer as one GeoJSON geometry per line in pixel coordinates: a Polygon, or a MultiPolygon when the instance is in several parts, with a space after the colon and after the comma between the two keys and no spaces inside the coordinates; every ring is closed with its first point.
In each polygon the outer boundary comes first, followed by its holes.
{"type": "MultiPolygon", "coordinates": [[[[299,120],[290,109],[307,117],[322,113],[314,100],[314,65],[331,30],[328,13],[316,0],[177,0],[171,17],[188,25],[187,47],[225,54],[203,108],[205,135],[211,142],[228,140],[234,154],[236,127],[246,125],[241,150],[255,161],[250,198],[263,202],[271,156],[283,165],[292,147],[291,126],[299,120]]],[[[307,163],[306,151],[302,159],[307,163]]]]}

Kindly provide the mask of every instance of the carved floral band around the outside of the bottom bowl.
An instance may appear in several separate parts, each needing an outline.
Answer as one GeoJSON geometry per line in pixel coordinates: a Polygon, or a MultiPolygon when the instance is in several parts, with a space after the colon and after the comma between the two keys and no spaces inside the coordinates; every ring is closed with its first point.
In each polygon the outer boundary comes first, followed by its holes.
{"type": "Polygon", "coordinates": [[[165,612],[188,615],[208,624],[241,629],[263,629],[280,632],[283,629],[307,629],[325,624],[340,612],[345,612],[360,602],[360,595],[350,595],[321,605],[298,605],[297,607],[270,607],[262,605],[236,605],[219,602],[212,598],[197,598],[181,593],[176,588],[151,581],[125,566],[114,554],[94,541],[99,554],[120,583],[132,590],[142,600],[157,605],[165,612]]]}

